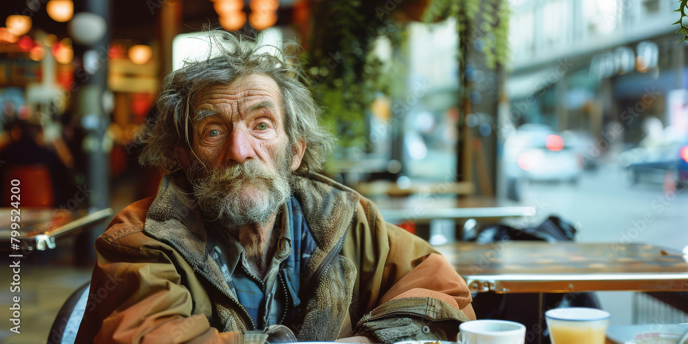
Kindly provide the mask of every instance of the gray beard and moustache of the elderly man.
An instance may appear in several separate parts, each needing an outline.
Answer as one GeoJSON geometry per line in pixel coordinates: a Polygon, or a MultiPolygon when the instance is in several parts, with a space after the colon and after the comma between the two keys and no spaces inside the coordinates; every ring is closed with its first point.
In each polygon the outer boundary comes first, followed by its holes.
{"type": "MultiPolygon", "coordinates": [[[[277,170],[255,159],[217,168],[204,178],[193,178],[193,194],[210,221],[219,220],[230,230],[270,222],[292,195],[291,159],[286,149],[277,152],[277,170]]],[[[192,174],[204,169],[195,161],[192,174]]]]}

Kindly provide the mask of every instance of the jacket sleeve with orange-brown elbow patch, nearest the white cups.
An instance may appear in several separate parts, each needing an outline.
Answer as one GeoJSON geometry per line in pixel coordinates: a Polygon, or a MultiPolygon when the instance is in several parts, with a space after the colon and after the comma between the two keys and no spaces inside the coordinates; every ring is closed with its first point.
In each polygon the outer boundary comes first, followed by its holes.
{"type": "Polygon", "coordinates": [[[475,319],[465,281],[427,241],[387,224],[365,198],[356,216],[343,252],[359,269],[354,332],[381,343],[451,340],[458,323],[475,319]]]}

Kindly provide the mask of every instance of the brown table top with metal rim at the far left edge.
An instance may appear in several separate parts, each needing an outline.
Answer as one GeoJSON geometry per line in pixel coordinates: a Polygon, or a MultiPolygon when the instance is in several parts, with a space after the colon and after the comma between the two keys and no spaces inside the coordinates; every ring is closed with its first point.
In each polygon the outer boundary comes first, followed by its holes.
{"type": "MultiPolygon", "coordinates": [[[[69,211],[51,208],[21,208],[19,210],[19,239],[22,248],[45,250],[55,248],[55,241],[72,235],[89,224],[102,221],[112,215],[111,208],[98,211],[69,211]]],[[[17,209],[0,208],[0,250],[9,248],[12,218],[17,216],[17,209]],[[12,210],[14,212],[12,213],[12,210]]]]}

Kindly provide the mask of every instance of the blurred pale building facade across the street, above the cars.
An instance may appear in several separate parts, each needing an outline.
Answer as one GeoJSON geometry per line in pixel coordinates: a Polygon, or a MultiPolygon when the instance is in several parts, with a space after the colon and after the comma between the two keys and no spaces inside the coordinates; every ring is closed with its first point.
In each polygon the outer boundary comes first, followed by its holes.
{"type": "Polygon", "coordinates": [[[686,45],[671,25],[672,1],[510,2],[502,144],[520,125],[546,125],[583,142],[577,149],[590,167],[616,164],[647,136],[648,118],[685,128],[686,45]]]}

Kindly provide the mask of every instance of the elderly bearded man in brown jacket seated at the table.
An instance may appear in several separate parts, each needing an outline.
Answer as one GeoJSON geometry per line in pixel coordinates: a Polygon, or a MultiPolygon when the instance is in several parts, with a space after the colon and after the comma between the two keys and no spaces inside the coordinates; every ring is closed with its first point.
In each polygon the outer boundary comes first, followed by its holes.
{"type": "Polygon", "coordinates": [[[333,140],[294,59],[216,35],[166,78],[140,162],[167,173],[96,241],[77,343],[455,338],[449,262],[316,173],[333,140]]]}

